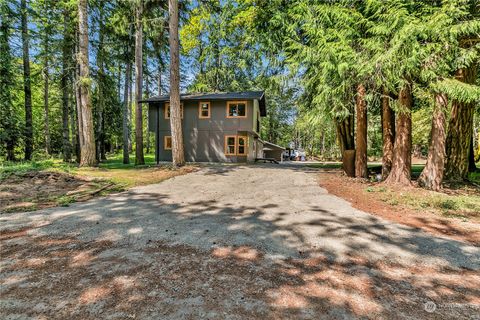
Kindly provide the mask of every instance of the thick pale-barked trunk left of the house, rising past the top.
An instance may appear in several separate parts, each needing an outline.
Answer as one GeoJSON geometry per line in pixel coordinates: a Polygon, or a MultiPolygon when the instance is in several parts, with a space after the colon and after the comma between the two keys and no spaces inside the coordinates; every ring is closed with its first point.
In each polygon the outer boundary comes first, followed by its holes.
{"type": "Polygon", "coordinates": [[[95,166],[95,135],[93,130],[92,102],[90,97],[90,69],[88,65],[88,13],[87,0],[78,1],[80,73],[80,166],[95,166]]]}

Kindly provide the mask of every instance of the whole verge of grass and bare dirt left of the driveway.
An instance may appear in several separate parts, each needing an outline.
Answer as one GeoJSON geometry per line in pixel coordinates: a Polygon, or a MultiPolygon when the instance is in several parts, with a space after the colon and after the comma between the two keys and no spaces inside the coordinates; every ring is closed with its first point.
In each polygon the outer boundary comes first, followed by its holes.
{"type": "Polygon", "coordinates": [[[1,191],[4,192],[4,198],[0,200],[5,202],[0,205],[0,211],[32,211],[51,206],[69,206],[94,196],[159,183],[192,170],[192,166],[180,169],[174,169],[171,165],[157,166],[153,154],[145,155],[145,165],[141,166],[135,165],[134,156],[130,156],[129,164],[123,164],[120,154],[111,155],[95,168],[79,168],[59,159],[3,162],[0,163],[0,183],[3,182],[1,191]],[[38,174],[25,176],[32,172],[38,174]],[[63,178],[55,180],[58,178],[54,178],[52,172],[68,173],[74,178],[66,177],[67,182],[63,178]],[[38,183],[38,179],[44,180],[41,180],[42,184],[37,188],[38,184],[32,184],[38,183]]]}

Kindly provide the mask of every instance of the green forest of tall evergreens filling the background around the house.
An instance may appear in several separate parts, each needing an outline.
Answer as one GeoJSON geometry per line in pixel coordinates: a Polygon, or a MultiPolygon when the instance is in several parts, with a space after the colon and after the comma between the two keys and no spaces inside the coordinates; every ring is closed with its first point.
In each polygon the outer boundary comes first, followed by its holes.
{"type": "MultiPolygon", "coordinates": [[[[0,157],[79,161],[78,1],[0,1],[0,157]]],[[[381,157],[404,184],[410,154],[428,155],[437,189],[480,156],[479,12],[475,0],[180,1],[182,89],[265,90],[265,140],[327,159],[356,150],[359,177],[381,157]]],[[[88,1],[88,36],[96,158],[128,156],[140,43],[141,96],[168,93],[168,1],[88,1]]]]}

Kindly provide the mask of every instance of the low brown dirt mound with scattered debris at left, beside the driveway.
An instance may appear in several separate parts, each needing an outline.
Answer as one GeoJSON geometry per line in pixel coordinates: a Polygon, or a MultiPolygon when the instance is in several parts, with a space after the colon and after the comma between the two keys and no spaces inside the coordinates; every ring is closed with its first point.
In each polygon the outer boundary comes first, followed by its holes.
{"type": "Polygon", "coordinates": [[[112,182],[63,172],[13,174],[0,181],[0,213],[68,205],[111,189],[112,182]]]}

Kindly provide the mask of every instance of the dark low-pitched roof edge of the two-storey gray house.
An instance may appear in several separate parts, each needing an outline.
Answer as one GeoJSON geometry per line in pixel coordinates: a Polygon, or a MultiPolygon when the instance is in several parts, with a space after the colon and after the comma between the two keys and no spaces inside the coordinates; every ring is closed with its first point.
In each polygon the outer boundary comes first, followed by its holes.
{"type": "MultiPolygon", "coordinates": [[[[213,93],[183,93],[180,95],[180,100],[258,100],[260,106],[260,115],[265,117],[267,115],[267,107],[265,105],[265,93],[263,91],[242,91],[242,92],[213,92],[213,93]]],[[[157,95],[144,99],[141,102],[155,103],[165,102],[170,100],[170,95],[157,95]]]]}

